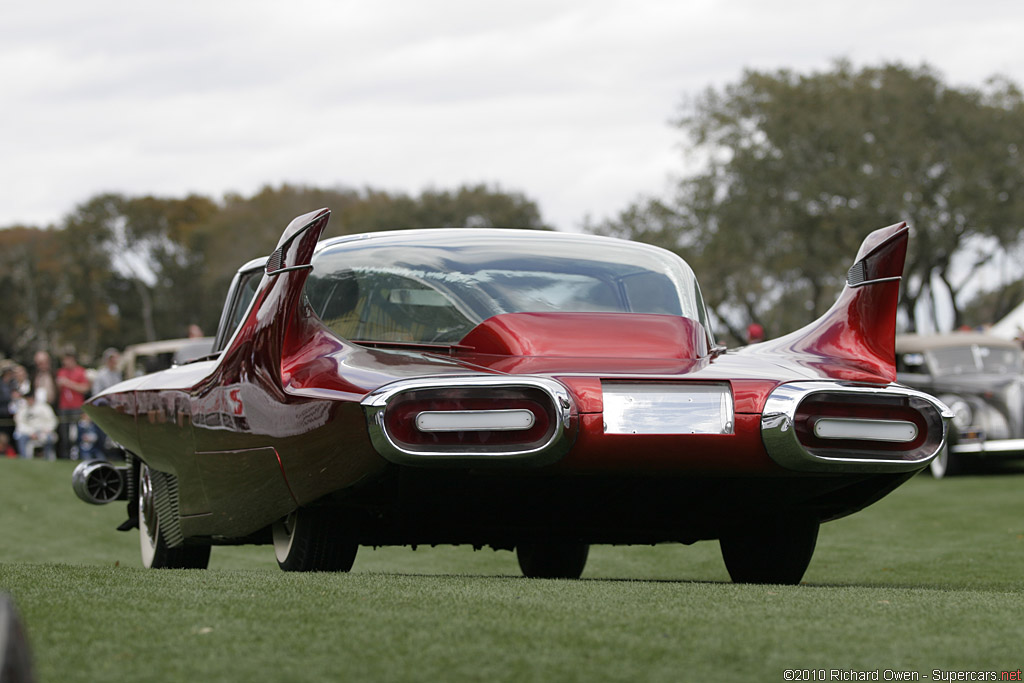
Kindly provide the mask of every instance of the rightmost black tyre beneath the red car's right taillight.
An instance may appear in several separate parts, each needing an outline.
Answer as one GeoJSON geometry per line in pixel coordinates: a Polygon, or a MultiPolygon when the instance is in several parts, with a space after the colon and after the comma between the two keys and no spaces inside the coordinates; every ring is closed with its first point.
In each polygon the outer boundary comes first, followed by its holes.
{"type": "Polygon", "coordinates": [[[777,516],[722,535],[722,559],[737,584],[799,584],[811,563],[818,521],[777,516]]]}

